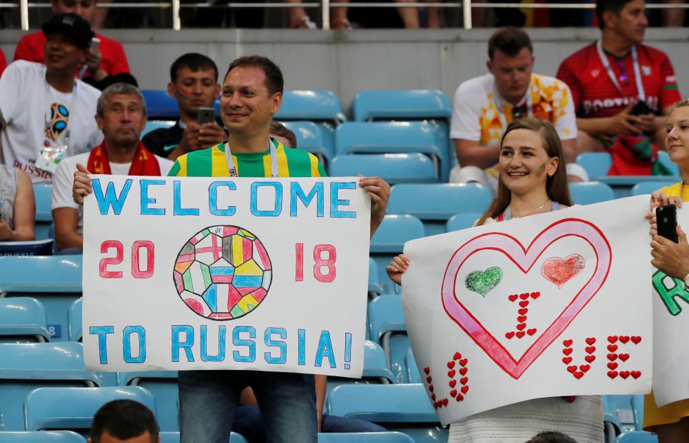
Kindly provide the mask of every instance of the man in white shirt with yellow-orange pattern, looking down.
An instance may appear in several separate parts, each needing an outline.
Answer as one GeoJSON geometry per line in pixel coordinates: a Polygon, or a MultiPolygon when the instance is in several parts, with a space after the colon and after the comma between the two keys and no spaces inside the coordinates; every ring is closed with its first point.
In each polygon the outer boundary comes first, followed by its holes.
{"type": "Polygon", "coordinates": [[[570,181],[587,181],[575,160],[577,124],[567,85],[533,74],[533,46],[524,30],[502,28],[488,43],[488,74],[464,81],[455,92],[450,137],[458,166],[453,183],[481,183],[493,192],[500,171],[500,138],[515,119],[533,116],[555,125],[562,138],[570,181]]]}

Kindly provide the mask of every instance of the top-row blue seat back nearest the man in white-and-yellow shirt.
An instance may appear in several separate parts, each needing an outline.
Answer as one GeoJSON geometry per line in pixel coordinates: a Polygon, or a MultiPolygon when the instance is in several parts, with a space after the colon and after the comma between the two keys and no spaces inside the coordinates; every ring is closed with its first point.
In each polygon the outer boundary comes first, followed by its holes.
{"type": "Polygon", "coordinates": [[[452,103],[439,90],[373,90],[354,96],[355,121],[420,120],[452,117],[452,103]]]}

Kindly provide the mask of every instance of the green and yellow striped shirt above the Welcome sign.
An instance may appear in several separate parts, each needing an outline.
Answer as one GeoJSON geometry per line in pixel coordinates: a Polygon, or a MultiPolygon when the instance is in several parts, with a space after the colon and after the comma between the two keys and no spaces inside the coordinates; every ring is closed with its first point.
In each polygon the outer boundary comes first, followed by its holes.
{"type": "MultiPolygon", "coordinates": [[[[325,177],[325,170],[313,154],[298,149],[285,148],[274,138],[278,154],[280,177],[325,177]]],[[[233,153],[234,164],[240,177],[270,177],[270,150],[265,152],[233,153]]],[[[189,152],[177,158],[168,176],[172,177],[229,177],[225,158],[225,143],[207,150],[189,152]]]]}

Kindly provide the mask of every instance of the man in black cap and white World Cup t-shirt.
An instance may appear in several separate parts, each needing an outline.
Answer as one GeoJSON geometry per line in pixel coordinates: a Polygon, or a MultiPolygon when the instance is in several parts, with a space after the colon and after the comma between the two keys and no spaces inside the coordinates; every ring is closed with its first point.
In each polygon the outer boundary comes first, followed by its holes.
{"type": "Polygon", "coordinates": [[[52,181],[62,158],[87,152],[103,139],[94,119],[101,92],[74,79],[93,37],[88,21],[56,14],[42,28],[45,65],[15,61],[0,78],[4,161],[34,183],[52,181]]]}

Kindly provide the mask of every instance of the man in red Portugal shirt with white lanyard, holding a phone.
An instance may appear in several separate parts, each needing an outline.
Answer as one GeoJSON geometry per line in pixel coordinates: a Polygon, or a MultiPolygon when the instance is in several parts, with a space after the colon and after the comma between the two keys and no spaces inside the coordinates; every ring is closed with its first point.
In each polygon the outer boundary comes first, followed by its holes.
{"type": "Polygon", "coordinates": [[[603,150],[618,135],[648,134],[662,146],[666,115],[680,95],[668,56],[641,44],[648,27],[644,0],[599,0],[596,12],[601,39],[557,71],[576,107],[577,151],[603,150]]]}

